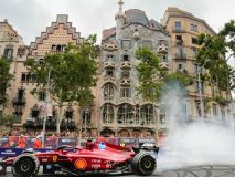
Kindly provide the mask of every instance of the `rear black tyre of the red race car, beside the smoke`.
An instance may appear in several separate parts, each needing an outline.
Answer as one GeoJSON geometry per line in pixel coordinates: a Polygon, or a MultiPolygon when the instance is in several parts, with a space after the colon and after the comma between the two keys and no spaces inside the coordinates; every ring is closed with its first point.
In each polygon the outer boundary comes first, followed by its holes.
{"type": "Polygon", "coordinates": [[[148,176],[156,170],[156,158],[149,153],[139,153],[133,157],[132,170],[137,175],[148,176]]]}

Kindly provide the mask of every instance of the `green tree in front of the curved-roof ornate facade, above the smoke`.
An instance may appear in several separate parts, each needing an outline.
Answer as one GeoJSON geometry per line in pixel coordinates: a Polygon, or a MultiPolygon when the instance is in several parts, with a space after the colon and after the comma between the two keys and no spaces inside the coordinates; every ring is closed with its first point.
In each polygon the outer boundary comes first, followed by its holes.
{"type": "Polygon", "coordinates": [[[184,72],[168,73],[162,70],[159,65],[160,56],[148,48],[138,49],[136,56],[140,60],[140,63],[137,65],[139,80],[137,91],[146,101],[157,102],[168,83],[178,83],[184,88],[193,84],[192,77],[184,72]]]}

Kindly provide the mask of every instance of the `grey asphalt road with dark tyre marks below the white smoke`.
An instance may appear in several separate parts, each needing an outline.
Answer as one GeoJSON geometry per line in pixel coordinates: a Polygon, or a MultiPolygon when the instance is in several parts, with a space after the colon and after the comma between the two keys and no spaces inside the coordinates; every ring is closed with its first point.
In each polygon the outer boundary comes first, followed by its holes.
{"type": "MultiPolygon", "coordinates": [[[[153,177],[235,177],[235,165],[203,165],[158,171],[153,177]]],[[[10,171],[6,177],[12,177],[10,171]]],[[[39,176],[42,177],[42,176],[39,176]]],[[[137,177],[129,175],[128,177],[137,177]]]]}

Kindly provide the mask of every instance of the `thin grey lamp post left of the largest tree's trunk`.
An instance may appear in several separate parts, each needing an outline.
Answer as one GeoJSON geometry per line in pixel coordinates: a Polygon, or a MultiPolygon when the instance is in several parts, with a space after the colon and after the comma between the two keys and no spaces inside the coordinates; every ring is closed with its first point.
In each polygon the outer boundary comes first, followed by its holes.
{"type": "Polygon", "coordinates": [[[47,117],[47,110],[49,110],[49,101],[50,101],[50,77],[51,77],[51,67],[49,69],[49,75],[47,75],[47,83],[46,83],[46,91],[45,91],[45,113],[43,118],[43,131],[42,131],[42,145],[45,146],[45,122],[47,117]]]}

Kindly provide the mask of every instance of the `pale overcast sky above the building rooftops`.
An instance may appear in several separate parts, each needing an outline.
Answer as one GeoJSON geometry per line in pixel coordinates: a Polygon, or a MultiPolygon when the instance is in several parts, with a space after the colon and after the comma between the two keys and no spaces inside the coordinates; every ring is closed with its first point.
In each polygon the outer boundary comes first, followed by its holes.
{"type": "MultiPolygon", "coordinates": [[[[25,44],[34,42],[56,14],[68,14],[68,21],[82,37],[97,34],[115,25],[118,0],[0,0],[0,21],[8,19],[23,37],[25,44]]],[[[235,19],[235,0],[124,0],[124,10],[140,9],[149,19],[160,22],[168,7],[178,7],[205,20],[215,31],[235,19]]]]}

